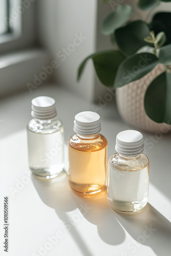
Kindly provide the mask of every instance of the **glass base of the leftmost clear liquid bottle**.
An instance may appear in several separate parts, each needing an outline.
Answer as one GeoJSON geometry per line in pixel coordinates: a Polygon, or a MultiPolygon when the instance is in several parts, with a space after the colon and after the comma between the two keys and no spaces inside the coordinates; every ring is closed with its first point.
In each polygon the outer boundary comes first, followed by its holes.
{"type": "Polygon", "coordinates": [[[34,169],[34,168],[30,167],[30,170],[36,176],[45,177],[47,179],[52,179],[52,178],[59,176],[64,171],[64,168],[57,170],[56,172],[54,171],[54,169],[52,170],[50,168],[34,169]]]}

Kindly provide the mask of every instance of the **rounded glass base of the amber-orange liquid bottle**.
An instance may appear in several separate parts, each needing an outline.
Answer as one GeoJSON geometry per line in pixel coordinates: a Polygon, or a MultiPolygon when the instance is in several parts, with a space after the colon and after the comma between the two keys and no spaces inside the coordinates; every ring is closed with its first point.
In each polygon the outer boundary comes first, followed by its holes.
{"type": "Polygon", "coordinates": [[[69,183],[74,192],[82,197],[92,197],[93,195],[96,196],[97,194],[102,195],[106,193],[105,185],[77,184],[71,181],[69,183]]]}

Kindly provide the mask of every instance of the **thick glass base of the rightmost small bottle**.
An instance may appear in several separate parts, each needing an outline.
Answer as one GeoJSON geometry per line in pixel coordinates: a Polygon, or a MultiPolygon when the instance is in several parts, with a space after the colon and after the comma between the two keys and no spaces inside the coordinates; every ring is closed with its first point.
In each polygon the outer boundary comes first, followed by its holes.
{"type": "Polygon", "coordinates": [[[147,201],[126,202],[126,201],[111,200],[109,198],[108,198],[108,202],[114,210],[119,212],[125,212],[125,213],[140,211],[147,204],[147,201]]]}

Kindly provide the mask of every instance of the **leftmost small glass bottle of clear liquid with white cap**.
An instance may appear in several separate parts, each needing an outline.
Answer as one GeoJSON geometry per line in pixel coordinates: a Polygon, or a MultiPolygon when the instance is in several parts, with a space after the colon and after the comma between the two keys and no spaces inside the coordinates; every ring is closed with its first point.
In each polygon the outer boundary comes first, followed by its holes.
{"type": "Polygon", "coordinates": [[[29,166],[33,174],[54,178],[64,168],[63,124],[56,119],[55,99],[39,96],[31,101],[28,123],[29,166]]]}

